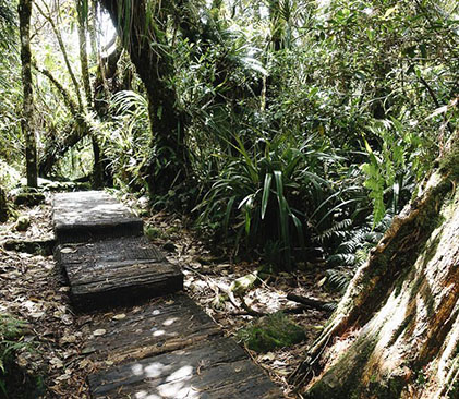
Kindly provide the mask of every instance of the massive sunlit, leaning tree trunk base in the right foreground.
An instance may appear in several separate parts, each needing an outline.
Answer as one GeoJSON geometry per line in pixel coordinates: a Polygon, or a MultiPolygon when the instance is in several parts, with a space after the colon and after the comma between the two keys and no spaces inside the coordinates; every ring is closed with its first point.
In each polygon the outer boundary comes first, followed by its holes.
{"type": "Polygon", "coordinates": [[[291,380],[305,397],[459,398],[459,146],[394,220],[291,380]]]}

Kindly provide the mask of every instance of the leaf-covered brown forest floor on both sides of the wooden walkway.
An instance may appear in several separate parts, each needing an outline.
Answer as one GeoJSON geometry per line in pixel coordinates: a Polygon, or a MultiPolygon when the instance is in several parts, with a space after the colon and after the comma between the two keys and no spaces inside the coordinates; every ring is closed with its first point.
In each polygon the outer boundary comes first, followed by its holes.
{"type": "MultiPolygon", "coordinates": [[[[130,205],[136,204],[131,200],[130,205]]],[[[49,198],[46,204],[20,208],[19,214],[27,215],[31,226],[20,232],[14,221],[0,225],[0,243],[53,238],[49,198]]],[[[258,263],[234,263],[225,259],[225,256],[213,256],[208,246],[184,228],[177,216],[159,213],[144,218],[144,221],[153,242],[166,252],[170,262],[182,267],[185,292],[221,326],[226,335],[237,337],[242,327],[255,322],[257,317],[249,315],[239,300],[233,303],[221,301],[221,294],[234,279],[255,271],[261,266],[258,263]]],[[[322,268],[280,273],[245,292],[245,303],[256,312],[268,314],[298,307],[297,303],[287,300],[289,292],[336,301],[336,294],[327,293],[322,287],[324,277],[322,268]]],[[[94,371],[92,361],[87,359],[89,327],[98,317],[107,315],[100,315],[100,312],[75,315],[68,291],[69,287],[57,270],[52,255],[5,251],[0,246],[0,314],[9,314],[26,323],[25,344],[16,356],[16,363],[29,375],[24,376],[22,383],[35,380],[35,385],[45,386],[48,390],[47,394],[33,392],[34,398],[39,395],[43,398],[89,398],[86,377],[94,371]],[[37,375],[43,377],[37,379],[37,375]]],[[[135,312],[135,307],[130,311],[135,312]]],[[[286,398],[295,398],[287,376],[303,359],[307,347],[327,322],[328,313],[304,310],[289,317],[304,329],[306,339],[303,342],[265,353],[249,349],[247,352],[282,387],[286,398]]],[[[17,376],[13,384],[27,385],[21,384],[17,376]]],[[[20,395],[17,391],[10,397],[20,398],[20,395]]]]}

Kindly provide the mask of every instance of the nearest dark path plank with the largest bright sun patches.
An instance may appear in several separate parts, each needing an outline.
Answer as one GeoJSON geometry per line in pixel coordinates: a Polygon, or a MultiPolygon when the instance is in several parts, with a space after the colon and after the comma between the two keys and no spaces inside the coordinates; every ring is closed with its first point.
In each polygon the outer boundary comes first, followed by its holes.
{"type": "Polygon", "coordinates": [[[279,389],[229,338],[89,376],[94,399],[278,399],[279,389]]]}

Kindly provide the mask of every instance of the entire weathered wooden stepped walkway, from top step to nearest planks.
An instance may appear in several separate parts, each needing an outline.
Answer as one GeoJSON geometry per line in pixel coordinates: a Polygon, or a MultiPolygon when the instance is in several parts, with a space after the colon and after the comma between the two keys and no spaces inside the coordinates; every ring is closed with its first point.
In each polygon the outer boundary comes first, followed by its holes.
{"type": "Polygon", "coordinates": [[[104,314],[85,351],[96,365],[93,399],[283,397],[181,292],[182,273],[125,206],[105,192],[57,194],[53,223],[75,311],[104,314]]]}

